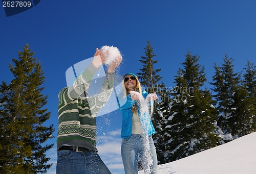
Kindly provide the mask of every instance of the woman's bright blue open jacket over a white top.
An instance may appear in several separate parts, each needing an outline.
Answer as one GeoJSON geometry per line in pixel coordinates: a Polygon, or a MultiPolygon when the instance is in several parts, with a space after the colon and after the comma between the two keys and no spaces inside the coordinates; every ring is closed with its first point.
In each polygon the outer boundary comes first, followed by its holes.
{"type": "MultiPolygon", "coordinates": [[[[142,96],[146,98],[148,93],[145,90],[142,90],[142,96]]],[[[137,101],[133,101],[131,99],[131,95],[127,95],[125,98],[122,98],[119,100],[120,103],[120,111],[122,113],[122,130],[121,130],[121,137],[124,138],[130,138],[132,134],[132,118],[133,118],[133,112],[132,112],[132,106],[136,103],[137,101]]],[[[147,133],[148,136],[151,136],[156,133],[154,126],[151,121],[151,117],[149,113],[141,115],[141,110],[139,109],[140,106],[137,104],[138,107],[138,115],[139,119],[141,122],[141,125],[144,125],[144,128],[142,126],[142,130],[144,133],[147,133]],[[143,124],[144,123],[144,124],[143,124]],[[145,131],[147,129],[147,132],[145,131]]],[[[151,102],[150,102],[151,104],[151,102]]]]}

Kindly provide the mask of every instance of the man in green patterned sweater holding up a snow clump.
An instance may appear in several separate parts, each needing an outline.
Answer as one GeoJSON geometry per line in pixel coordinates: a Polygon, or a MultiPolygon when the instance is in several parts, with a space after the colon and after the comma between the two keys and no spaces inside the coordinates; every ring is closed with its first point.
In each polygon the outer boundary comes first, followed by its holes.
{"type": "Polygon", "coordinates": [[[96,115],[111,96],[121,55],[109,66],[101,92],[94,96],[87,93],[94,74],[107,56],[97,48],[93,61],[73,85],[59,92],[57,174],[111,173],[97,153],[96,115]]]}

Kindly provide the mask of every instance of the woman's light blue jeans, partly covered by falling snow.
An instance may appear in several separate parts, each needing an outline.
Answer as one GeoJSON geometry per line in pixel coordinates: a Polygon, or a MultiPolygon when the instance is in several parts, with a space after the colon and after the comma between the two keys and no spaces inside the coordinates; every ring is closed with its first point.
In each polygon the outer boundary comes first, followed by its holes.
{"type": "Polygon", "coordinates": [[[139,157],[146,174],[157,174],[157,154],[151,136],[147,139],[144,135],[132,134],[129,139],[122,139],[121,155],[125,174],[138,173],[139,157]]]}

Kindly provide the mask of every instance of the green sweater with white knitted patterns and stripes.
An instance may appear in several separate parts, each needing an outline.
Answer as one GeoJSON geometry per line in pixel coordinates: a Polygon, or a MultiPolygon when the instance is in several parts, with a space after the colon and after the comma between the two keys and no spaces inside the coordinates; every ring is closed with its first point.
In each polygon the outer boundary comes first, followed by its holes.
{"type": "Polygon", "coordinates": [[[96,115],[108,102],[114,85],[114,73],[106,73],[98,95],[82,95],[97,70],[91,63],[71,87],[59,92],[57,150],[62,145],[96,150],[96,115]]]}

